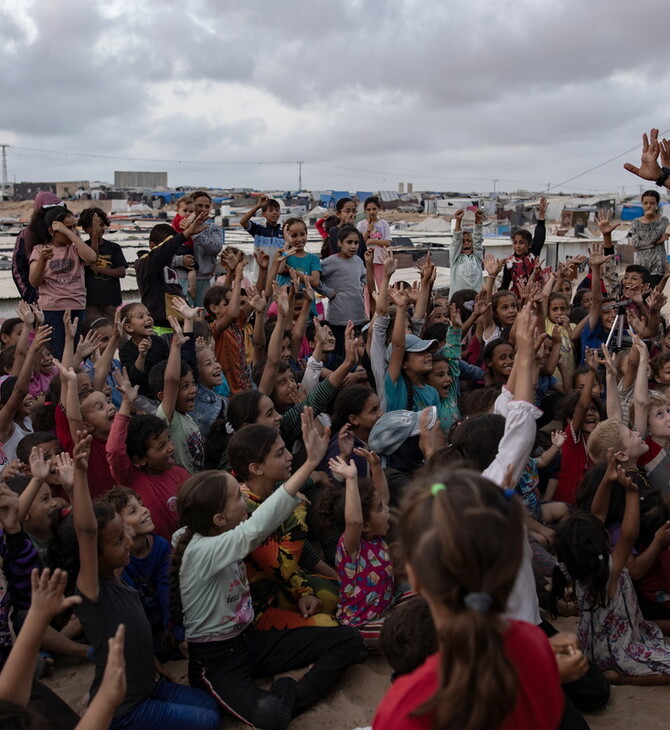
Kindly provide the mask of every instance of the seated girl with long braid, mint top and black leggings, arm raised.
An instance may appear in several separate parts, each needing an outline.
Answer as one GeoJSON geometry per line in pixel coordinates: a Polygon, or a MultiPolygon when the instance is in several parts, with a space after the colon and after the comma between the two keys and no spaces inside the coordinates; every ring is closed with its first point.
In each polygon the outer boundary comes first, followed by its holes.
{"type": "MultiPolygon", "coordinates": [[[[298,504],[297,493],[316,468],[328,443],[319,436],[311,409],[302,417],[307,460],[247,519],[238,482],[225,472],[201,472],[179,493],[184,531],[177,540],[173,597],[181,598],[189,643],[189,679],[229,712],[260,728],[285,728],[344,672],[365,658],[363,642],[346,626],[256,631],[249,583],[242,561],[298,504]],[[253,683],[312,664],[298,682],[277,679],[269,690],[253,683]]],[[[178,610],[176,611],[178,613],[178,610]]],[[[176,617],[175,617],[176,618],[176,617]]]]}

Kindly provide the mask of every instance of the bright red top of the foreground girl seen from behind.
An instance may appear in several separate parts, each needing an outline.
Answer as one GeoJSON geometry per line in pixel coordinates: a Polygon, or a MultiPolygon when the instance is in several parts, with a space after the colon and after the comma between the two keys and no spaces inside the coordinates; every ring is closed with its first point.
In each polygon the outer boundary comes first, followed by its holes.
{"type": "MultiPolygon", "coordinates": [[[[510,621],[505,653],[519,677],[516,704],[500,730],[556,730],[563,716],[563,690],[554,652],[542,629],[510,621]]],[[[411,713],[437,689],[440,655],[433,654],[411,674],[397,679],[377,708],[372,730],[431,730],[430,713],[411,713]]]]}

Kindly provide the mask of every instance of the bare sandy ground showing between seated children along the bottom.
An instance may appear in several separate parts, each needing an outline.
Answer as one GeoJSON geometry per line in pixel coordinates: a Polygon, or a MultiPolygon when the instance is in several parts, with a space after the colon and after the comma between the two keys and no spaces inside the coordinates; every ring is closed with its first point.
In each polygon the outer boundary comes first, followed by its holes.
{"type": "MultiPolygon", "coordinates": [[[[575,631],[576,619],[558,619],[554,625],[562,631],[575,631]]],[[[169,662],[173,676],[184,684],[186,662],[169,662]]],[[[296,718],[290,730],[353,730],[372,722],[375,707],[390,684],[391,670],[382,657],[373,656],[352,667],[338,684],[321,700],[296,718]]],[[[45,680],[57,694],[75,710],[81,709],[93,676],[91,665],[73,665],[62,660],[53,674],[45,680]]],[[[668,687],[612,687],[607,707],[589,713],[586,720],[593,730],[655,730],[668,726],[670,714],[670,686],[668,687]]],[[[225,719],[225,730],[246,727],[240,722],[225,719]]]]}

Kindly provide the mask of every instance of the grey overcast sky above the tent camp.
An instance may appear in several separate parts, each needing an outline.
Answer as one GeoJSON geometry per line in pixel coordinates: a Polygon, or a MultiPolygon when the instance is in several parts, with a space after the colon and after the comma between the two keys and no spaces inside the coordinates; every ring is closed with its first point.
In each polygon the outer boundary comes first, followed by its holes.
{"type": "MultiPolygon", "coordinates": [[[[307,189],[538,190],[670,128],[669,19],[659,0],[0,0],[0,143],[17,181],[297,188],[304,160],[307,189]]],[[[633,192],[627,160],[562,189],[633,192]]]]}

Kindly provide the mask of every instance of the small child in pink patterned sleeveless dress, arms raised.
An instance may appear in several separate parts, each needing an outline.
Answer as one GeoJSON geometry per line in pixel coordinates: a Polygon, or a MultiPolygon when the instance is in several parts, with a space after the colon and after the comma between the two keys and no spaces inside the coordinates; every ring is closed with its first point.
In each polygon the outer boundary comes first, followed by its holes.
{"type": "Polygon", "coordinates": [[[365,449],[357,452],[370,461],[372,483],[359,481],[353,459],[347,463],[338,456],[330,460],[329,468],[344,479],[344,504],[341,487],[330,500],[324,495],[321,504],[330,506],[332,521],[340,530],[344,528],[335,553],[340,578],[337,618],[361,631],[367,649],[378,649],[383,616],[395,598],[393,565],[384,539],[389,530],[390,497],[379,457],[365,449]]]}

